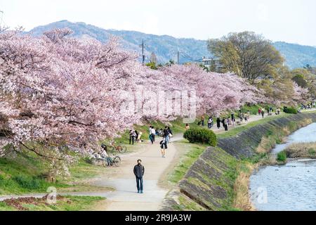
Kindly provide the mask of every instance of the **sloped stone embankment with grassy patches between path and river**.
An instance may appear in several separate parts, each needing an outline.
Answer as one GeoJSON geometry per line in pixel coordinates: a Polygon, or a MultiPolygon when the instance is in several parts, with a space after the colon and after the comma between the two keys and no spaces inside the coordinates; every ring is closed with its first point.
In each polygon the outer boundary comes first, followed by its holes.
{"type": "Polygon", "coordinates": [[[162,210],[233,210],[241,159],[257,155],[258,147],[269,151],[275,141],[312,122],[316,113],[291,115],[219,139],[218,148],[206,148],[178,187],[166,195],[162,210]]]}

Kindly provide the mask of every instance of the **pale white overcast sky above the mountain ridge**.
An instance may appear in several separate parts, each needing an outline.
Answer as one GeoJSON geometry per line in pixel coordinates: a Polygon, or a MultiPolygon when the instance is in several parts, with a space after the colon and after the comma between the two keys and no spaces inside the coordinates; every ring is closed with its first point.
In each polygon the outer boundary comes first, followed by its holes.
{"type": "Polygon", "coordinates": [[[6,25],[26,30],[70,20],[196,39],[249,30],[316,46],[315,0],[0,0],[0,11],[6,25]]]}

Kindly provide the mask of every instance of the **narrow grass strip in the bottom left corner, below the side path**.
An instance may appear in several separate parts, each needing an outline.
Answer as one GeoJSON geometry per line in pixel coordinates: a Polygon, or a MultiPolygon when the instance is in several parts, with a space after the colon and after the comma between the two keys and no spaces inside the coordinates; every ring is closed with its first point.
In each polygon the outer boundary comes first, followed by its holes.
{"type": "Polygon", "coordinates": [[[48,204],[44,198],[18,198],[0,202],[0,211],[79,211],[93,210],[104,204],[105,198],[87,196],[60,196],[48,204]]]}

